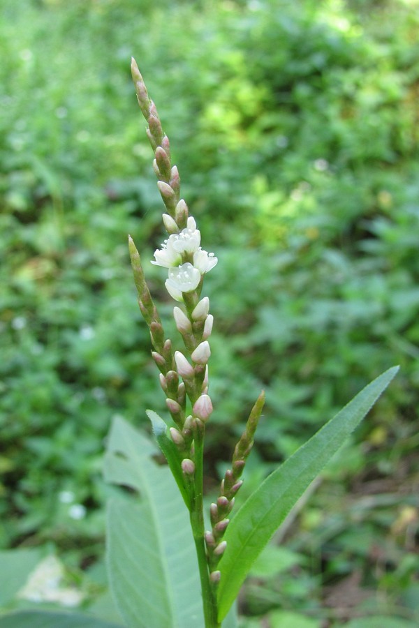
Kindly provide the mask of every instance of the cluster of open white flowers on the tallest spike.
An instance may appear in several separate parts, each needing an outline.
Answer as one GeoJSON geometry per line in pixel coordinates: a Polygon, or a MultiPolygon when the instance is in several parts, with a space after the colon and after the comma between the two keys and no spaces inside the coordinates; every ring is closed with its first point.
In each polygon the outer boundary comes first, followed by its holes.
{"type": "MultiPolygon", "coordinates": [[[[168,230],[175,230],[175,220],[168,214],[165,216],[168,230]]],[[[208,253],[200,247],[200,232],[193,216],[189,216],[185,229],[179,231],[177,228],[177,232],[171,233],[161,248],[154,251],[154,258],[152,264],[169,269],[166,289],[176,301],[183,301],[182,292],[196,290],[201,277],[218,262],[214,253],[208,253]]]]}

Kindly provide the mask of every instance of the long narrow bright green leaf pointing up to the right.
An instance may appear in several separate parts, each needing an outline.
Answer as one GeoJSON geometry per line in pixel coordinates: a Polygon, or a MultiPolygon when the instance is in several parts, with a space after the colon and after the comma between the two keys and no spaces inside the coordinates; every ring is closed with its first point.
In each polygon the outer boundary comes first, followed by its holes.
{"type": "Polygon", "coordinates": [[[311,481],[372,408],[398,370],[398,366],[390,368],[368,384],[291,458],[270,474],[233,517],[226,531],[226,552],[219,564],[220,622],[267,541],[311,481]]]}

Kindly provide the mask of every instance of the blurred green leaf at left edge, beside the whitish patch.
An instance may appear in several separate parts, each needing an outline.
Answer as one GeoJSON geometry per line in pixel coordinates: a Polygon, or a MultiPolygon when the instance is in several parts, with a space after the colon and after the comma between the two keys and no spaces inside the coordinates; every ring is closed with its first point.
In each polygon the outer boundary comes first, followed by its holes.
{"type": "Polygon", "coordinates": [[[45,551],[41,548],[18,548],[0,552],[0,605],[15,597],[27,583],[45,551]]]}

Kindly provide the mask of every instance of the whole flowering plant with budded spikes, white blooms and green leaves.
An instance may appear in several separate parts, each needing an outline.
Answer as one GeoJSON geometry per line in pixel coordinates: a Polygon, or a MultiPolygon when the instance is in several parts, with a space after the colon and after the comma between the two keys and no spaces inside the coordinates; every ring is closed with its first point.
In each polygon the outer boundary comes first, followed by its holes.
{"type": "MultiPolygon", "coordinates": [[[[184,348],[166,337],[131,237],[128,247],[140,311],[149,328],[152,358],[159,369],[170,419],[147,410],[167,465],[156,463],[156,445],[121,417],[115,417],[105,454],[105,479],[128,487],[108,507],[108,578],[124,625],[129,628],[234,628],[235,599],[254,560],[283,523],[311,481],[351,434],[397,373],[390,368],[367,385],[277,470],[234,514],[235,496],[263,411],[262,391],[233,451],[219,495],[203,504],[203,455],[210,397],[210,299],[202,297],[205,274],[217,257],[201,248],[201,234],[180,196],[177,167],[156,106],[134,60],[131,70],[138,103],[147,120],[154,171],[166,212],[168,233],[152,264],[167,271],[166,289],[179,305],[173,316],[184,348]],[[176,486],[177,485],[177,486],[176,486]],[[177,490],[179,489],[179,490],[177,490]]],[[[87,615],[25,611],[6,615],[0,625],[21,628],[65,625],[117,628],[87,615]],[[6,621],[6,623],[2,623],[6,621]],[[25,623],[26,622],[26,623],[25,623]],[[60,623],[62,622],[62,623],[60,623]]]]}

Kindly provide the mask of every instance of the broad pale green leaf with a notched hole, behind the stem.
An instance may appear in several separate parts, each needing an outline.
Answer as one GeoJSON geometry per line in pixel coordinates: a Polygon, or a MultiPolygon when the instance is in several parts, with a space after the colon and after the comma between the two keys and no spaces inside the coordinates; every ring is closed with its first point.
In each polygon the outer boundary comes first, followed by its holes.
{"type": "Polygon", "coordinates": [[[138,491],[108,509],[108,572],[130,628],[204,625],[188,511],[167,466],[145,436],[117,417],[105,454],[105,479],[138,491]]]}

